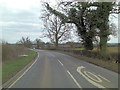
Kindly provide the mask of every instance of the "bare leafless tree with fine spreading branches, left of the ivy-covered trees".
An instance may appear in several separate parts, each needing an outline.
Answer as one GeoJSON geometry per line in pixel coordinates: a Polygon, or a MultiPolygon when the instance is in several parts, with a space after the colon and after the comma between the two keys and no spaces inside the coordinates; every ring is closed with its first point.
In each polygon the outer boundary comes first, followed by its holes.
{"type": "Polygon", "coordinates": [[[70,39],[71,24],[63,23],[59,17],[45,10],[41,17],[44,21],[44,36],[58,47],[58,43],[70,39]]]}

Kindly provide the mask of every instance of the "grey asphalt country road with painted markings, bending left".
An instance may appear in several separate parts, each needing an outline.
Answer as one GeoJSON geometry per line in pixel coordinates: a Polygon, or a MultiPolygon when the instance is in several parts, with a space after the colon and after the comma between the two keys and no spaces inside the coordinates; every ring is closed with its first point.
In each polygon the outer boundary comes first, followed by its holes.
{"type": "Polygon", "coordinates": [[[11,88],[118,88],[118,74],[47,50],[11,88]]]}

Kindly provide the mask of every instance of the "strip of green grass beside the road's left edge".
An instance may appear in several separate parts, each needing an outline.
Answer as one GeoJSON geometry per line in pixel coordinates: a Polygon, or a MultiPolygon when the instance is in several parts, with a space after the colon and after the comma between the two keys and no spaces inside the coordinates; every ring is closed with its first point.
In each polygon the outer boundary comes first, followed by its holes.
{"type": "Polygon", "coordinates": [[[8,63],[2,64],[2,82],[4,83],[17,72],[19,72],[24,66],[30,63],[35,58],[35,52],[30,51],[28,56],[21,56],[18,59],[11,60],[8,63]]]}

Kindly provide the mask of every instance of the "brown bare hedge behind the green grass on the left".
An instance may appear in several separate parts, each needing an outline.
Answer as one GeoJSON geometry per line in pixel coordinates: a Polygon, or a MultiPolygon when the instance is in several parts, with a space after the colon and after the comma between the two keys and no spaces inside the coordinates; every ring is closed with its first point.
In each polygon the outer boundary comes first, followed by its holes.
{"type": "Polygon", "coordinates": [[[29,51],[20,45],[10,45],[3,44],[2,45],[2,63],[7,63],[11,60],[15,60],[19,58],[21,54],[28,54],[29,51]]]}

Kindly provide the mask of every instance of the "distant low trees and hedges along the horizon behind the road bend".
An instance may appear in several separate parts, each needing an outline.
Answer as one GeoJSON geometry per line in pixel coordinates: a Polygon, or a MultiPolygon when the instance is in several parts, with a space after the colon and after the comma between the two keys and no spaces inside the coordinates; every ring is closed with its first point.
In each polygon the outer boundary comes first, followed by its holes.
{"type": "MultiPolygon", "coordinates": [[[[7,43],[7,42],[6,42],[7,43]]],[[[9,43],[7,43],[9,44],[9,43]]],[[[16,45],[22,45],[26,48],[35,48],[35,49],[47,49],[47,48],[55,48],[54,43],[43,42],[41,39],[36,38],[35,40],[31,40],[29,37],[22,37],[16,45]]],[[[65,42],[58,45],[59,48],[80,48],[83,47],[81,43],[78,42],[65,42]]]]}

